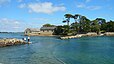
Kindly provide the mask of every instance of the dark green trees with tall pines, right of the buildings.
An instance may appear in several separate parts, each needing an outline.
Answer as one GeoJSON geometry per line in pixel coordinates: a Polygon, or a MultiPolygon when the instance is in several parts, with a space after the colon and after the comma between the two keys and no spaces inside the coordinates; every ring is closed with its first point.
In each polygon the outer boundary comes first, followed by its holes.
{"type": "Polygon", "coordinates": [[[88,32],[96,32],[97,34],[100,34],[101,32],[114,32],[114,21],[112,20],[106,21],[104,18],[90,20],[86,16],[80,14],[65,14],[64,17],[66,19],[62,22],[67,24],[57,26],[54,34],[69,35],[88,32]],[[74,19],[74,22],[69,24],[71,19],[74,19]]]}

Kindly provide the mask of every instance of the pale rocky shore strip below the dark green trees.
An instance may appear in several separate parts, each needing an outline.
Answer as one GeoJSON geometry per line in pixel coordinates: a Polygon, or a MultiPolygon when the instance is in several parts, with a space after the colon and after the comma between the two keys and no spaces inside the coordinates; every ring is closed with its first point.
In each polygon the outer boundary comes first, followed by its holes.
{"type": "Polygon", "coordinates": [[[106,32],[106,33],[99,34],[99,35],[95,32],[90,32],[87,34],[77,34],[74,36],[64,36],[64,37],[60,37],[60,39],[80,38],[80,37],[84,37],[84,36],[114,36],[114,32],[106,32]]]}

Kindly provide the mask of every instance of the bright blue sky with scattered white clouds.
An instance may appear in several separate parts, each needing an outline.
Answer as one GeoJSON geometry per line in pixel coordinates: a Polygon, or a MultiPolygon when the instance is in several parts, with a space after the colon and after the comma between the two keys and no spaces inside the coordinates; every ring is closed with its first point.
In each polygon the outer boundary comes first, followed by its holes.
{"type": "Polygon", "coordinates": [[[114,20],[114,0],[0,0],[0,32],[23,32],[46,23],[63,25],[67,13],[114,20]]]}

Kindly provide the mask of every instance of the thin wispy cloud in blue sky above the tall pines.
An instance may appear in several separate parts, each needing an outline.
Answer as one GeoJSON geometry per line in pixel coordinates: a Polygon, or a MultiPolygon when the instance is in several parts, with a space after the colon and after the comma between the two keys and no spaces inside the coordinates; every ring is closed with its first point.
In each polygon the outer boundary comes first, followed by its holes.
{"type": "Polygon", "coordinates": [[[77,8],[88,9],[88,10],[99,10],[102,7],[101,6],[87,6],[84,3],[80,3],[77,5],[77,8]]]}

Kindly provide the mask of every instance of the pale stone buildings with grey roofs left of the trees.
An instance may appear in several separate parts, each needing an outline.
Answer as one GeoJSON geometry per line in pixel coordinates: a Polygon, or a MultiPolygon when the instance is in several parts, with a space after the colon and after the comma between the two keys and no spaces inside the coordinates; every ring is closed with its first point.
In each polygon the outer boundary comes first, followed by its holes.
{"type": "Polygon", "coordinates": [[[24,32],[25,35],[30,36],[51,36],[54,33],[56,27],[41,27],[40,30],[38,28],[27,28],[24,32]]]}

